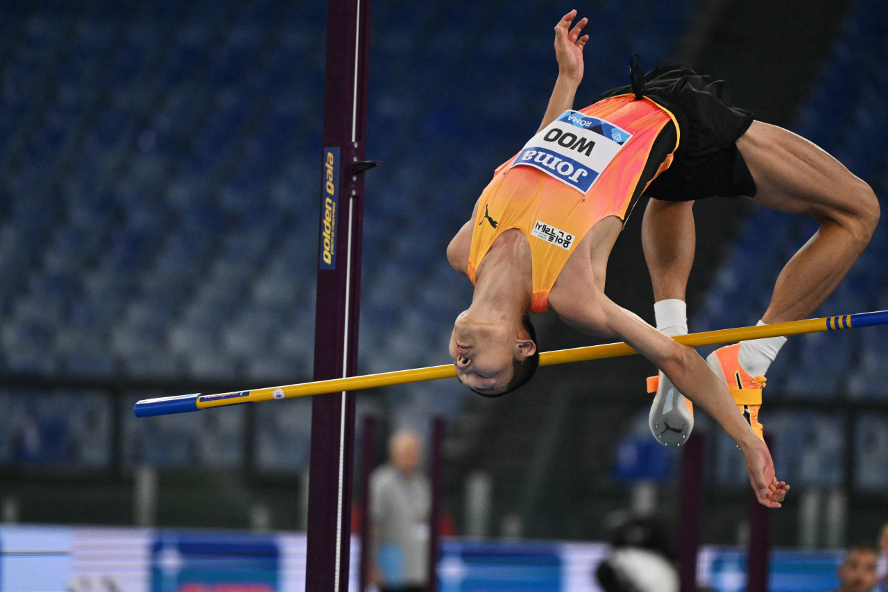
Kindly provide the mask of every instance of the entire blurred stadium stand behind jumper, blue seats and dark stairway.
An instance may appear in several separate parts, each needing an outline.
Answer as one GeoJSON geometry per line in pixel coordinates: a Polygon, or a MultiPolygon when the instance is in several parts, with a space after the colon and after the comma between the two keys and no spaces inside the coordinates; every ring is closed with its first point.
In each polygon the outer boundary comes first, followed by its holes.
{"type": "MultiPolygon", "coordinates": [[[[631,53],[648,69],[686,62],[881,195],[888,7],[771,4],[577,5],[591,40],[576,106],[625,84],[631,53]]],[[[572,7],[374,3],[368,155],[385,164],[367,173],[361,372],[448,361],[472,287],[449,268],[447,243],[535,131],[557,75],[551,28],[572,7]]],[[[262,507],[274,527],[300,525],[310,401],[150,420],[131,408],[311,378],[325,26],[317,2],[0,4],[5,517],[131,523],[147,467],[160,471],[158,524],[243,526],[262,507]]],[[[607,292],[653,321],[644,205],[614,249],[607,292]]],[[[695,214],[691,330],[754,324],[812,223],[742,200],[695,214]]],[[[888,308],[886,257],[883,222],[816,315],[888,308]]],[[[551,315],[535,322],[543,350],[596,343],[551,315]]],[[[775,517],[779,543],[870,536],[888,513],[886,358],[888,332],[868,328],[791,338],[773,366],[762,421],[799,492],[775,517]],[[847,515],[834,538],[805,530],[830,503],[847,515]]],[[[457,525],[480,478],[494,501],[484,533],[504,521],[525,536],[600,537],[626,507],[626,481],[650,511],[677,503],[675,455],[646,428],[653,371],[640,359],[543,368],[496,401],[455,381],[417,384],[361,394],[358,413],[421,433],[433,414],[448,418],[445,505],[457,525]]],[[[697,427],[708,432],[704,539],[739,541],[742,457],[708,427],[697,427]]]]}

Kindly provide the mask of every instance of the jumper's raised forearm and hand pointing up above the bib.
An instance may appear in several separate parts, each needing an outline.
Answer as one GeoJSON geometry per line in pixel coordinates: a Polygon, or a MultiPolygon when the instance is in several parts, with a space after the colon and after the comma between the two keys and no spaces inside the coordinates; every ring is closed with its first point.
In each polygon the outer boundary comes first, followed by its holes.
{"type": "MultiPolygon", "coordinates": [[[[558,59],[558,80],[549,99],[549,107],[543,116],[540,130],[555,121],[560,114],[574,107],[576,89],[583,80],[583,45],[589,36],[580,36],[580,31],[589,22],[580,19],[575,28],[570,25],[576,18],[576,11],[567,12],[555,27],[555,57],[558,59]]],[[[539,130],[537,130],[539,131],[539,130]]]]}

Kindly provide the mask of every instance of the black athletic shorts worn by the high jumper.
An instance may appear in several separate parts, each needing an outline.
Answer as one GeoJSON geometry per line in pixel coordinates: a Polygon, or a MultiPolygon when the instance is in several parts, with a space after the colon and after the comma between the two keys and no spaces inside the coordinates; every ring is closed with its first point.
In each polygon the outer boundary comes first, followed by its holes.
{"type": "MultiPolygon", "coordinates": [[[[697,75],[686,66],[658,67],[643,80],[643,94],[669,109],[681,131],[670,168],[655,178],[644,194],[664,201],[716,195],[754,197],[756,182],[735,144],[752,124],[752,114],[731,105],[725,81],[697,75]]],[[[624,86],[605,92],[598,100],[631,92],[630,86],[624,86]]],[[[653,161],[660,166],[675,146],[674,134],[671,125],[664,129],[662,138],[654,143],[649,164],[653,161]],[[668,136],[672,143],[667,147],[668,136]]]]}

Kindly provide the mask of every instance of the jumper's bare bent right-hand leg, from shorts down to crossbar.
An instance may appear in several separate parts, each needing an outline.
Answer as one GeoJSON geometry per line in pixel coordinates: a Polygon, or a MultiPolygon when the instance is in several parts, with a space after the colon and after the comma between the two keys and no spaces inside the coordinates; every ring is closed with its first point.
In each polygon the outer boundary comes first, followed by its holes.
{"type": "Polygon", "coordinates": [[[753,122],[737,147],[756,181],[757,203],[807,214],[820,225],[783,267],[762,318],[805,319],[866,249],[879,220],[878,199],[841,162],[788,130],[753,122]]]}

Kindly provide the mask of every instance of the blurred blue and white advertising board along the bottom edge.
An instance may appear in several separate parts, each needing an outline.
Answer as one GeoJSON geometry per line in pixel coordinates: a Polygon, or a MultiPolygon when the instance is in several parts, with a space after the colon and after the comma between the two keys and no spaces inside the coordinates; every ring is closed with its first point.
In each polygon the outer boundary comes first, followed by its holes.
{"type": "MultiPolygon", "coordinates": [[[[0,525],[0,590],[305,592],[305,544],[305,534],[298,533],[0,525]]],[[[437,570],[440,589],[600,592],[594,573],[610,551],[600,542],[445,538],[437,570]]],[[[357,536],[351,537],[350,553],[360,556],[357,536]]],[[[842,559],[840,549],[774,549],[770,589],[834,589],[842,559]]],[[[358,562],[348,569],[343,592],[357,592],[358,562]]],[[[697,583],[713,590],[742,589],[745,570],[746,549],[705,546],[697,559],[697,583]]]]}

